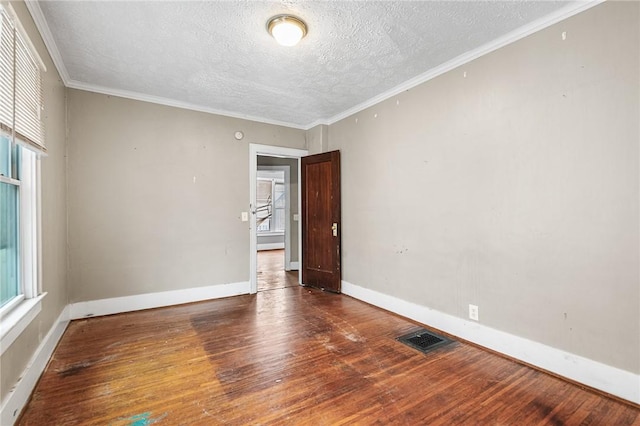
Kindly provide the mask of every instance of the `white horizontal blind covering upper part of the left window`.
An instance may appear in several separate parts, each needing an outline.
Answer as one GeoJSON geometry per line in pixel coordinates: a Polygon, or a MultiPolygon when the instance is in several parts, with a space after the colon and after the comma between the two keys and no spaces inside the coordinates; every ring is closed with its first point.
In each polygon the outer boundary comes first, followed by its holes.
{"type": "Polygon", "coordinates": [[[0,15],[0,127],[15,142],[46,151],[40,67],[7,12],[0,15]]]}

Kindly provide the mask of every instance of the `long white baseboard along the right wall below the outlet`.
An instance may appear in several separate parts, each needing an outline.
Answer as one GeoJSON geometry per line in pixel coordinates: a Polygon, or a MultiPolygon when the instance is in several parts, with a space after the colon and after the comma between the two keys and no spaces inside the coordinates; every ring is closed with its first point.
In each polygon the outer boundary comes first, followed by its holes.
{"type": "Polygon", "coordinates": [[[348,296],[640,404],[640,375],[342,281],[348,296]]]}

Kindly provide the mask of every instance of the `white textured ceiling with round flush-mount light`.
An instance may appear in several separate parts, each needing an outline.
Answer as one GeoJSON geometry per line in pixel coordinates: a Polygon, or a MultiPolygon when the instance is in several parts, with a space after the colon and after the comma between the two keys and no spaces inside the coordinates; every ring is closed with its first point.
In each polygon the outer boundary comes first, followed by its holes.
{"type": "Polygon", "coordinates": [[[308,128],[576,4],[40,1],[30,10],[70,87],[308,128]],[[309,27],[295,47],[265,29],[281,13],[309,27]]]}

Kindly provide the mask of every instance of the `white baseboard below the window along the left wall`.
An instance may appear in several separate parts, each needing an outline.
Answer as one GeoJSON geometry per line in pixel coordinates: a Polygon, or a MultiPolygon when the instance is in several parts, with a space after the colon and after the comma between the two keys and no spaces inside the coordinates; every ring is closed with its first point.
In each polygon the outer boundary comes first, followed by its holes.
{"type": "Polygon", "coordinates": [[[29,360],[27,367],[22,372],[20,380],[2,401],[0,406],[0,425],[13,425],[27,404],[40,375],[44,371],[53,355],[62,334],[69,324],[69,306],[67,305],[56,322],[53,324],[45,338],[40,342],[38,349],[29,360]]]}

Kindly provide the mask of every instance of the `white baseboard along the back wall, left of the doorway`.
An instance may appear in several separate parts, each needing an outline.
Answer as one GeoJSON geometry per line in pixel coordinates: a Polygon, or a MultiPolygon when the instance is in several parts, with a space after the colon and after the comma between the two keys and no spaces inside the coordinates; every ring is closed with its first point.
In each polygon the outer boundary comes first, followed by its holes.
{"type": "Polygon", "coordinates": [[[180,305],[182,303],[200,302],[202,300],[248,294],[249,290],[249,282],[243,281],[239,283],[187,288],[184,290],[161,291],[158,293],[146,293],[134,296],[77,302],[69,305],[71,306],[70,318],[79,319],[101,315],[112,315],[122,312],[139,311],[142,309],[180,305]]]}

